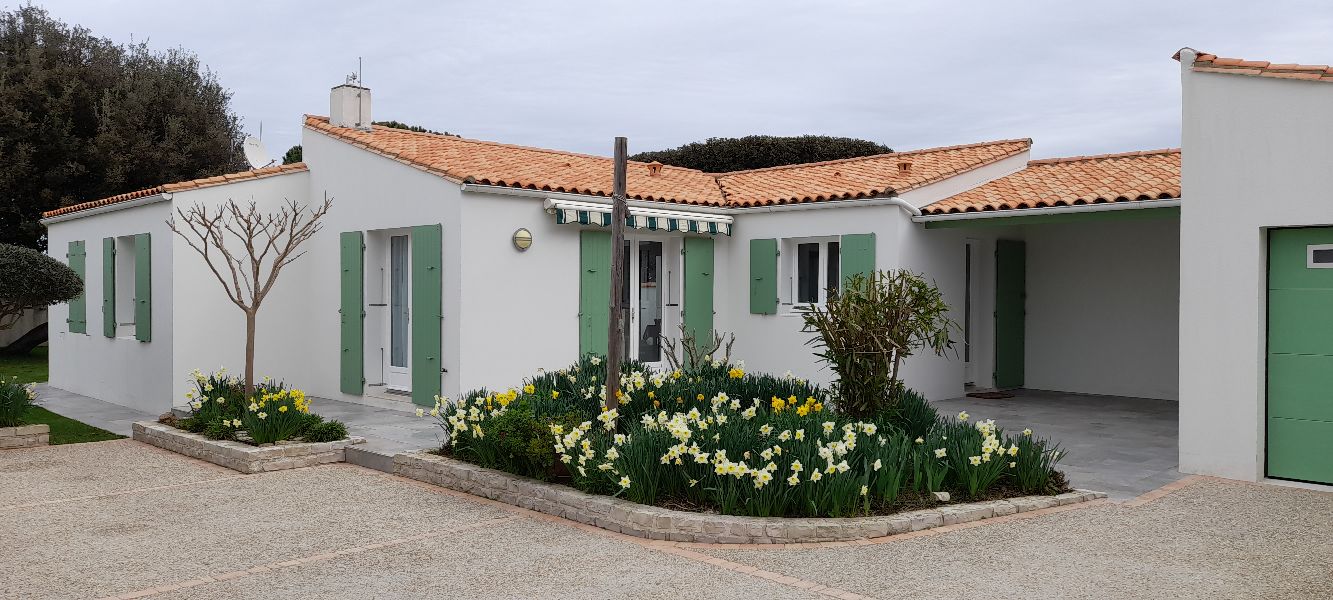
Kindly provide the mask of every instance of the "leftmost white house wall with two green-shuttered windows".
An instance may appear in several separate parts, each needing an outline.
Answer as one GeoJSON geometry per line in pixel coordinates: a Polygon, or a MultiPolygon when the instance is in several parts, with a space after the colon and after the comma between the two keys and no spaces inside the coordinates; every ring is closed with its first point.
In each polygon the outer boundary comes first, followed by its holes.
{"type": "MultiPolygon", "coordinates": [[[[164,411],[171,395],[173,247],[167,229],[169,201],[71,219],[47,225],[51,256],[68,264],[69,241],[84,240],[84,289],[88,333],[69,333],[68,304],[49,309],[51,385],[148,412],[164,411]],[[152,236],[152,341],[139,341],[133,331],[103,336],[104,237],[152,236]]],[[[133,295],[133,289],[117,289],[133,295]]]]}

